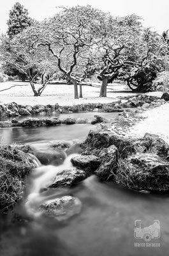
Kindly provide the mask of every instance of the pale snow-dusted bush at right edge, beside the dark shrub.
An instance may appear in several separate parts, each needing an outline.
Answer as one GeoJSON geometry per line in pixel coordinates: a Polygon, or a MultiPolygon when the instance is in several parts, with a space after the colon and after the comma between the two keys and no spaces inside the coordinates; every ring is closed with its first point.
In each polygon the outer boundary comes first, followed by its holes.
{"type": "Polygon", "coordinates": [[[163,71],[158,74],[152,83],[152,90],[159,92],[169,91],[169,72],[163,71]]]}

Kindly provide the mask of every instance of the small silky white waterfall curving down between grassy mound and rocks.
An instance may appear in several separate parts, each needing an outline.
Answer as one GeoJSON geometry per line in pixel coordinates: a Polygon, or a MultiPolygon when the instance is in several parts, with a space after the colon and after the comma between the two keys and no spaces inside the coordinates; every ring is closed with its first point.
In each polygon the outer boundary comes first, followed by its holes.
{"type": "Polygon", "coordinates": [[[61,196],[69,195],[68,188],[48,189],[55,179],[55,176],[62,170],[68,170],[73,167],[71,158],[78,154],[67,156],[59,166],[47,165],[40,166],[33,170],[29,178],[29,193],[26,198],[26,211],[33,216],[39,216],[41,213],[38,208],[44,202],[54,200],[61,196]]]}

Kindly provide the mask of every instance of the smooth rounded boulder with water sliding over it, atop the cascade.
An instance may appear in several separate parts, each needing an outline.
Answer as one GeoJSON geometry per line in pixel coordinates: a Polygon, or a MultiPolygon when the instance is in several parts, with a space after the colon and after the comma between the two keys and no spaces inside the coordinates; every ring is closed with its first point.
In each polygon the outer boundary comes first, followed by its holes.
{"type": "Polygon", "coordinates": [[[52,164],[54,166],[58,166],[64,162],[64,159],[66,159],[66,154],[59,149],[34,150],[33,153],[40,163],[44,165],[52,164]]]}

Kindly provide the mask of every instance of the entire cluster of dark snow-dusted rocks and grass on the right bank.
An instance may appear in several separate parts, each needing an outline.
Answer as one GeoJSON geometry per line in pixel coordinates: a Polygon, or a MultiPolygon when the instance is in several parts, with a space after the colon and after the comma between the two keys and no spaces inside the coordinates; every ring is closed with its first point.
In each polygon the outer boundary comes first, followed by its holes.
{"type": "Polygon", "coordinates": [[[82,154],[97,156],[95,170],[101,180],[114,180],[130,189],[169,191],[169,146],[159,136],[124,138],[98,127],[81,144],[82,154]]]}

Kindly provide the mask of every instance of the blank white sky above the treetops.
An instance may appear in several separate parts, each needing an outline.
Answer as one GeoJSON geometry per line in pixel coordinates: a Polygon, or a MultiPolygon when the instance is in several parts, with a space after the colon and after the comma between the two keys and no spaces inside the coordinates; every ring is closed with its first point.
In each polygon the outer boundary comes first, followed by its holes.
{"type": "MultiPolygon", "coordinates": [[[[17,0],[0,0],[0,33],[6,32],[8,15],[17,0]]],[[[143,25],[152,27],[159,33],[169,28],[168,0],[18,0],[36,20],[43,20],[55,14],[55,6],[75,6],[90,4],[114,16],[135,13],[143,17],[143,25]]]]}

